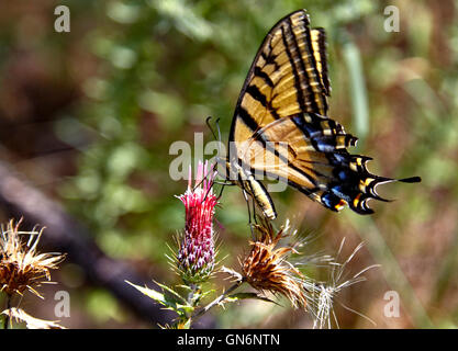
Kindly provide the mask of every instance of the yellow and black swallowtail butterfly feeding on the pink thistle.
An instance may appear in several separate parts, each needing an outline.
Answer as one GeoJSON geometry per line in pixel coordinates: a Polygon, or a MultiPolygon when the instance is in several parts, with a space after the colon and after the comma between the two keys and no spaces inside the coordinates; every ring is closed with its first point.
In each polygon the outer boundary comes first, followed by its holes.
{"type": "Polygon", "coordinates": [[[331,86],[323,29],[305,10],[281,19],[267,34],[242,88],[230,132],[226,178],[250,196],[264,216],[275,204],[260,181],[270,177],[332,211],[371,214],[370,199],[388,201],[377,185],[418,182],[368,171],[370,157],[351,155],[357,138],[327,116],[331,86]]]}

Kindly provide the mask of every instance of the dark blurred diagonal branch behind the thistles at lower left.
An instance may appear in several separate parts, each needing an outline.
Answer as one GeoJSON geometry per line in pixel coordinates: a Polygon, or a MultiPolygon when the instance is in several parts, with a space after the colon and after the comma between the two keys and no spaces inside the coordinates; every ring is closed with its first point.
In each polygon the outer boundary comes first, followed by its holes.
{"type": "Polygon", "coordinates": [[[156,288],[150,278],[139,276],[131,267],[122,261],[107,257],[91,240],[85,226],[69,216],[62,205],[21,180],[4,162],[0,161],[0,205],[8,215],[15,218],[24,217],[27,224],[46,226],[43,240],[58,251],[67,252],[68,259],[79,264],[88,278],[112,292],[122,303],[138,316],[156,324],[170,324],[175,314],[160,308],[150,298],[142,295],[126,284],[156,288]]]}

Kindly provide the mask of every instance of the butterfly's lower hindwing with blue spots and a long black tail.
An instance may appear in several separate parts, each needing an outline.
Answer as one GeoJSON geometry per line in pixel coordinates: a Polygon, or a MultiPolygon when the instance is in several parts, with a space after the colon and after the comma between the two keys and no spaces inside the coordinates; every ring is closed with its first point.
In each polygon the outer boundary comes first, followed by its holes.
{"type": "MultiPolygon", "coordinates": [[[[313,113],[277,120],[259,129],[245,144],[243,162],[253,172],[276,177],[323,206],[340,211],[348,205],[359,214],[371,214],[370,199],[377,185],[396,181],[368,171],[367,156],[350,155],[347,147],[357,138],[342,125],[313,113]]],[[[417,182],[420,178],[398,181],[417,182]]]]}

